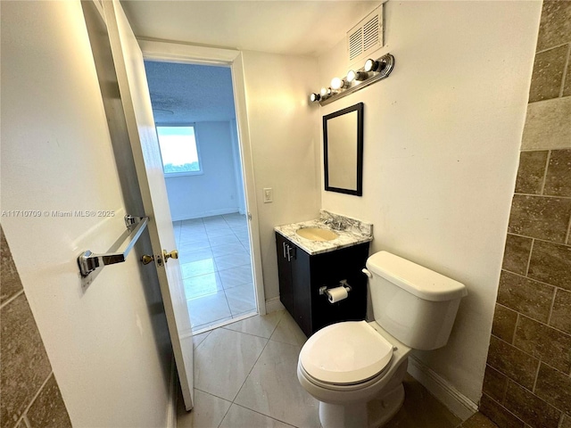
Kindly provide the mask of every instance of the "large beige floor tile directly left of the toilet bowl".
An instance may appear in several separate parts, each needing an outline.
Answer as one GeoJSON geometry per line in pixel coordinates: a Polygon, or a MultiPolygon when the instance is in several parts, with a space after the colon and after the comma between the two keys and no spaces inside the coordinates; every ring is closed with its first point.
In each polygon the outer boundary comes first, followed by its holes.
{"type": "Polygon", "coordinates": [[[319,402],[297,380],[300,350],[297,345],[269,341],[235,403],[287,424],[319,428],[319,402]]]}

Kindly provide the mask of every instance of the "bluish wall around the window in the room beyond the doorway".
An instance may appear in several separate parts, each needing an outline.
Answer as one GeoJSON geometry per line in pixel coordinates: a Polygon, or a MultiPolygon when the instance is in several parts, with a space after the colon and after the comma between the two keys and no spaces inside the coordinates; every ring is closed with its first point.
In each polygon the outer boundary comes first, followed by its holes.
{"type": "Polygon", "coordinates": [[[165,179],[175,221],[228,214],[240,206],[230,122],[196,122],[194,130],[203,174],[165,179]]]}

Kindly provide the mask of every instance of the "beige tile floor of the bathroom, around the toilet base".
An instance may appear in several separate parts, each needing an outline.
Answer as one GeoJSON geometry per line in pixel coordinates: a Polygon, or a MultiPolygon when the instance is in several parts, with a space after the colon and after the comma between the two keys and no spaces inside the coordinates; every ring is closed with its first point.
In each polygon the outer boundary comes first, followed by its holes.
{"type": "MultiPolygon", "coordinates": [[[[296,375],[305,335],[285,311],[249,317],[194,341],[194,409],[178,403],[178,428],[319,428],[319,403],[296,375]]],[[[386,428],[495,428],[476,414],[462,423],[412,377],[386,428]]]]}

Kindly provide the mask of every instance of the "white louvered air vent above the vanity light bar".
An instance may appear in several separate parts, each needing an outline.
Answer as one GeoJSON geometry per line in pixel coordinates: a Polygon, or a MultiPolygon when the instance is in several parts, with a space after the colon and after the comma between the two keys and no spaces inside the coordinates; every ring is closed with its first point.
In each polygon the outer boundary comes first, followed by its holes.
{"type": "Polygon", "coordinates": [[[364,59],[383,45],[383,4],[381,4],[347,32],[349,62],[364,59]]]}

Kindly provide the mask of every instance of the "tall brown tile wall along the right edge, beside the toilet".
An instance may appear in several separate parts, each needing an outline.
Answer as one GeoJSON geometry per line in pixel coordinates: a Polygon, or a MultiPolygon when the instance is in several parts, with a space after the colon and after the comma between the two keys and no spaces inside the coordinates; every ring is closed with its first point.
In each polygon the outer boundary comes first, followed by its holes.
{"type": "Polygon", "coordinates": [[[480,410],[571,427],[571,1],[545,0],[480,410]]]}

